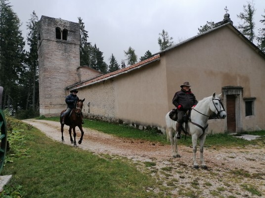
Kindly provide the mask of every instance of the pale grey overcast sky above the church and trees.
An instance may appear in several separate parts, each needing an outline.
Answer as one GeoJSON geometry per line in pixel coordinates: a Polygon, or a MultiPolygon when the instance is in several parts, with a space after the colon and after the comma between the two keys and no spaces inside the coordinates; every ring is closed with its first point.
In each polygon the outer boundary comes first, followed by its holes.
{"type": "MultiPolygon", "coordinates": [[[[223,20],[225,6],[228,8],[233,25],[240,22],[236,15],[243,12],[247,0],[9,0],[17,13],[26,39],[26,25],[33,10],[41,16],[61,18],[78,23],[83,19],[88,31],[88,41],[96,43],[109,65],[113,53],[118,63],[126,59],[124,51],[131,46],[138,59],[149,50],[152,54],[160,51],[159,33],[164,29],[179,40],[195,36],[198,28],[207,21],[223,20]]],[[[265,15],[265,0],[254,0],[256,34],[265,28],[260,22],[265,15]]],[[[256,44],[256,42],[254,42],[256,44]]],[[[127,65],[127,63],[126,63],[127,65]]]]}

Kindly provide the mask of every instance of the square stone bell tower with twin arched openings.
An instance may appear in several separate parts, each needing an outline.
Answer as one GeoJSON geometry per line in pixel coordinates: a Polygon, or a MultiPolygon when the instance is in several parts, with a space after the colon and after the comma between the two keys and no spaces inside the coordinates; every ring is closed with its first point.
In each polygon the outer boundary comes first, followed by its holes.
{"type": "Polygon", "coordinates": [[[66,108],[66,87],[78,82],[79,23],[42,16],[39,27],[40,115],[57,116],[66,108]]]}

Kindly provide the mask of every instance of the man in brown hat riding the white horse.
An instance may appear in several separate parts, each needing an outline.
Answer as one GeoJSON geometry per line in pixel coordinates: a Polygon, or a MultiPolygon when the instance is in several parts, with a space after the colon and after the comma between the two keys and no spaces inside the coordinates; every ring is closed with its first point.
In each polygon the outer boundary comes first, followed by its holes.
{"type": "Polygon", "coordinates": [[[198,103],[195,95],[191,92],[189,82],[180,85],[181,90],[176,92],[173,97],[173,104],[177,107],[177,139],[181,138],[181,125],[183,123],[183,115],[198,103]]]}

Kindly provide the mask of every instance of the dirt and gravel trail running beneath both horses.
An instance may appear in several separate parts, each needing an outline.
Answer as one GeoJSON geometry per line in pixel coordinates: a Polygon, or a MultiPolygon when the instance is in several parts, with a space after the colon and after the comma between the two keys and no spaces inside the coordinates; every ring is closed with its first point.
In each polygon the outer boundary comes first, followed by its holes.
{"type": "MultiPolygon", "coordinates": [[[[46,120],[24,120],[24,122],[40,129],[50,138],[61,141],[58,122],[46,120]]],[[[259,197],[251,193],[250,188],[256,189],[257,194],[265,196],[265,147],[247,146],[217,150],[205,148],[204,158],[208,170],[201,168],[196,170],[192,168],[190,147],[179,146],[181,158],[174,159],[171,156],[171,145],[118,138],[86,128],[83,130],[85,135],[82,144],[78,145],[79,148],[96,154],[119,155],[133,161],[155,162],[156,165],[150,169],[157,180],[163,181],[163,184],[171,189],[172,197],[189,197],[187,192],[193,192],[198,197],[259,197]],[[161,171],[161,168],[168,169],[168,172],[161,171]],[[202,188],[198,190],[196,186],[202,188]]],[[[76,131],[78,141],[81,133],[79,129],[76,131]]],[[[64,129],[64,140],[65,144],[73,145],[70,142],[67,126],[64,129]]],[[[197,160],[199,163],[199,150],[197,160]]]]}

